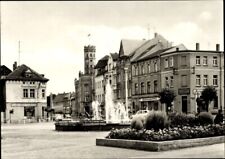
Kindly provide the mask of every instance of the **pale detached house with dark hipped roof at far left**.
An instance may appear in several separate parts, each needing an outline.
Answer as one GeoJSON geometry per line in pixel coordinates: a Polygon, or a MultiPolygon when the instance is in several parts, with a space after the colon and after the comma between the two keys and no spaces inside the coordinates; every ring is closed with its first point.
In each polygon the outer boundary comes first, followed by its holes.
{"type": "Polygon", "coordinates": [[[39,121],[46,118],[48,79],[26,65],[16,66],[4,77],[4,122],[39,121]]]}

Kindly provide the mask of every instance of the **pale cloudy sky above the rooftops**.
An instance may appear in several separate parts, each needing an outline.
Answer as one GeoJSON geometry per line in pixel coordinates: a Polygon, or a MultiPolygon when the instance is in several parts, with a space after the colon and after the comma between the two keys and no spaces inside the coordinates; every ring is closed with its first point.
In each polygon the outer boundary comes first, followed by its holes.
{"type": "Polygon", "coordinates": [[[96,46],[96,63],[118,53],[121,39],[151,39],[155,32],[188,49],[195,49],[196,42],[201,50],[215,50],[217,43],[224,48],[222,0],[0,4],[1,65],[12,70],[17,61],[44,74],[47,94],[75,91],[88,44],[96,46]]]}

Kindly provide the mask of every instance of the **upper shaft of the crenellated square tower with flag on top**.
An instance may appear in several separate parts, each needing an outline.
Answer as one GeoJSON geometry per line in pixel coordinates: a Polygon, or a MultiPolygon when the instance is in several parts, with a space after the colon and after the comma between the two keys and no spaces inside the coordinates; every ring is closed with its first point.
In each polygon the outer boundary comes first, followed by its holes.
{"type": "Polygon", "coordinates": [[[95,46],[84,46],[84,74],[93,75],[95,66],[95,46]]]}

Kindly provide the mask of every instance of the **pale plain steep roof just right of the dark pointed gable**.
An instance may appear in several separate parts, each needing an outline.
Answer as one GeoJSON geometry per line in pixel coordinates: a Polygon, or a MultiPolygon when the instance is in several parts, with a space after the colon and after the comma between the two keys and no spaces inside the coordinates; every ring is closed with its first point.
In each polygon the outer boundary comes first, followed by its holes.
{"type": "Polygon", "coordinates": [[[137,47],[145,43],[146,40],[122,39],[120,43],[120,55],[130,55],[137,47]]]}

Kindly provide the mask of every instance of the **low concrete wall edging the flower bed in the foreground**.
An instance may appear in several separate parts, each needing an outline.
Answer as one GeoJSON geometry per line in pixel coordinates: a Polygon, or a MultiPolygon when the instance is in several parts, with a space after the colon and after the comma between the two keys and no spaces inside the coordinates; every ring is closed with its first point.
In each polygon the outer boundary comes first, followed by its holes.
{"type": "Polygon", "coordinates": [[[130,148],[147,151],[166,151],[172,149],[211,145],[217,143],[224,143],[224,136],[171,140],[171,141],[141,141],[141,140],[124,140],[124,139],[105,139],[105,138],[96,139],[97,146],[112,146],[112,147],[130,148]]]}

